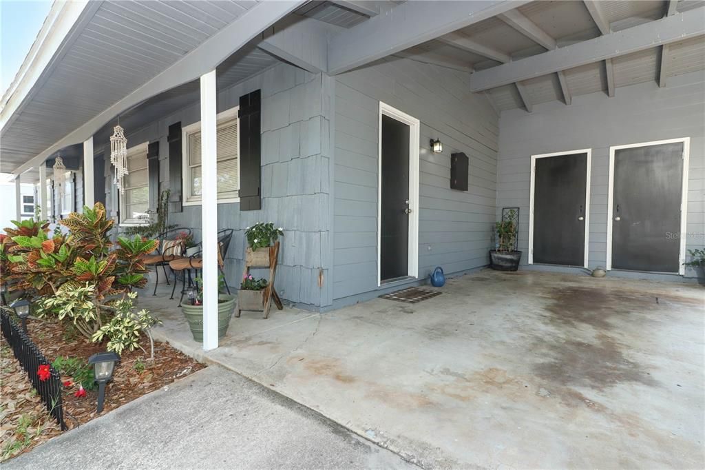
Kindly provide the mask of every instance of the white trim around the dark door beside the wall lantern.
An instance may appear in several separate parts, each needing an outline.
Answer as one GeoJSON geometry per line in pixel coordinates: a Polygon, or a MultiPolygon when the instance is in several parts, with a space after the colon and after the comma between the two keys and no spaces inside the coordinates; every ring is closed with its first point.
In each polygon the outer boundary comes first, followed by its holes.
{"type": "Polygon", "coordinates": [[[420,122],[413,116],[379,102],[377,138],[377,286],[381,286],[381,223],[382,223],[382,115],[405,123],[409,129],[409,277],[419,277],[419,133],[420,122]]]}

